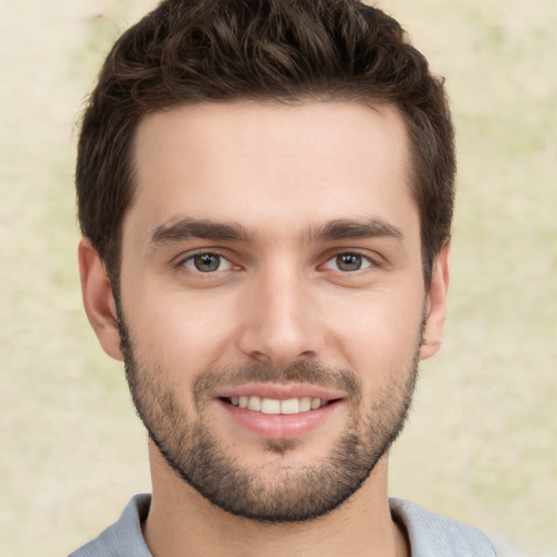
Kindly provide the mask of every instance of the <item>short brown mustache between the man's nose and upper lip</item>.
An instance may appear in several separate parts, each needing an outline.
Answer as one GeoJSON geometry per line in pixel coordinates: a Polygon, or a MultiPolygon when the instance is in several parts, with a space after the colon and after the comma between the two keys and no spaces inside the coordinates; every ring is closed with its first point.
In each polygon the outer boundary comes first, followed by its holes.
{"type": "Polygon", "coordinates": [[[255,362],[240,368],[211,370],[198,375],[193,385],[195,400],[223,386],[239,386],[246,383],[305,383],[346,392],[350,398],[361,397],[361,385],[348,369],[334,369],[317,361],[302,360],[287,366],[255,362]]]}

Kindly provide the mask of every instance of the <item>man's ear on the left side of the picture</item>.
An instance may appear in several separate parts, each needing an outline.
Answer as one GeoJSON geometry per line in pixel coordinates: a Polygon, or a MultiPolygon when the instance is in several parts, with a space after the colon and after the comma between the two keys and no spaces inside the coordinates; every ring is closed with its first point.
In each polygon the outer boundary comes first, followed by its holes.
{"type": "Polygon", "coordinates": [[[116,325],[116,305],[112,296],[104,264],[87,238],[77,248],[83,305],[89,323],[104,351],[115,360],[123,360],[116,325]]]}

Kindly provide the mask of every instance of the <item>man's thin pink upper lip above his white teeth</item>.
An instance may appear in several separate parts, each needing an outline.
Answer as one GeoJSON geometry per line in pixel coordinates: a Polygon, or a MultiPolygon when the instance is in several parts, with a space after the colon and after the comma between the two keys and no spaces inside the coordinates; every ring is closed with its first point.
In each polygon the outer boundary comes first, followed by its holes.
{"type": "Polygon", "coordinates": [[[275,400],[304,397],[335,400],[345,398],[346,393],[307,383],[246,383],[238,386],[223,387],[215,394],[215,398],[239,396],[259,396],[261,398],[273,398],[275,400]]]}

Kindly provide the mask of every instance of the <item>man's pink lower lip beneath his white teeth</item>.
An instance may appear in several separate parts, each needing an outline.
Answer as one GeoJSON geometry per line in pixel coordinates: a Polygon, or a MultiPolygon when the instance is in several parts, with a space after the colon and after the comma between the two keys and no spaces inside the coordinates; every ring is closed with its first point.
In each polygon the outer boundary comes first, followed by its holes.
{"type": "Polygon", "coordinates": [[[224,400],[218,400],[218,403],[236,423],[272,440],[292,440],[305,435],[322,425],[342,406],[341,400],[335,400],[318,410],[294,414],[270,414],[239,408],[224,400]]]}

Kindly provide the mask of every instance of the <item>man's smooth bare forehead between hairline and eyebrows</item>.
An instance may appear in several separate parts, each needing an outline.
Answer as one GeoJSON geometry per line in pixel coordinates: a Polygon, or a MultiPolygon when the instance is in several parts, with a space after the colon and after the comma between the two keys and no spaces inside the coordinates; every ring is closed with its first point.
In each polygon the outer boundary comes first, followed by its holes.
{"type": "Polygon", "coordinates": [[[391,106],[237,101],[153,113],[136,135],[124,234],[183,216],[271,235],[333,219],[405,220],[417,213],[407,144],[391,106]]]}

